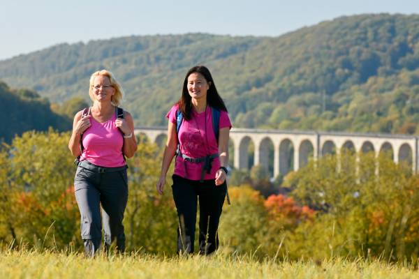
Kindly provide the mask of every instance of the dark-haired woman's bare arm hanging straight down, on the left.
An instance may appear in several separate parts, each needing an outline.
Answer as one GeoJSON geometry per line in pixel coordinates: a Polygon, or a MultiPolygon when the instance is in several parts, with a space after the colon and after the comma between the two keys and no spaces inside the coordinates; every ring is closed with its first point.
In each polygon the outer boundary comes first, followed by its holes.
{"type": "Polygon", "coordinates": [[[161,173],[159,182],[157,182],[156,189],[157,192],[163,194],[164,184],[166,183],[166,174],[172,163],[173,156],[175,156],[177,149],[177,133],[176,126],[174,123],[169,121],[168,124],[168,142],[163,153],[163,160],[161,162],[161,173]]]}

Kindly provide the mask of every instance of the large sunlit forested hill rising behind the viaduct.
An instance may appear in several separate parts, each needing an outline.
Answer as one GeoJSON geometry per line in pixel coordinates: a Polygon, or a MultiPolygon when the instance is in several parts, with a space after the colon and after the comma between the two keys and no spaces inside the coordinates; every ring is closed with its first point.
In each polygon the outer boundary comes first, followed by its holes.
{"type": "Polygon", "coordinates": [[[419,132],[419,15],[356,15],[276,38],[131,36],[0,61],[0,80],[62,102],[87,100],[108,68],[136,125],[163,125],[186,70],[209,66],[235,127],[419,132]]]}

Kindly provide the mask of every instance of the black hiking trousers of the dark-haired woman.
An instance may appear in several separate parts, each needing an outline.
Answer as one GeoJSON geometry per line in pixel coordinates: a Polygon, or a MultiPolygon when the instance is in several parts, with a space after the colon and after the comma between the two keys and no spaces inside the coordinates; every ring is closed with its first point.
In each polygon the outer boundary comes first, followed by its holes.
{"type": "Polygon", "coordinates": [[[219,246],[218,227],[226,197],[226,182],[215,185],[215,179],[203,182],[184,179],[173,174],[173,199],[175,200],[179,227],[177,252],[193,252],[196,213],[199,201],[199,250],[208,255],[219,246]]]}

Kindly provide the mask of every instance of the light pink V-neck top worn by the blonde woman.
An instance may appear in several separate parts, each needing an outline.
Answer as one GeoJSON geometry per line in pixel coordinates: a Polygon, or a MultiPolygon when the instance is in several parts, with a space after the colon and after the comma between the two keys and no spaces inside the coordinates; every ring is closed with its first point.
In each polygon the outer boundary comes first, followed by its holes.
{"type": "Polygon", "coordinates": [[[101,167],[122,167],[125,165],[122,155],[124,138],[115,126],[117,116],[99,123],[90,118],[91,126],[83,133],[83,152],[80,160],[88,160],[101,167]]]}

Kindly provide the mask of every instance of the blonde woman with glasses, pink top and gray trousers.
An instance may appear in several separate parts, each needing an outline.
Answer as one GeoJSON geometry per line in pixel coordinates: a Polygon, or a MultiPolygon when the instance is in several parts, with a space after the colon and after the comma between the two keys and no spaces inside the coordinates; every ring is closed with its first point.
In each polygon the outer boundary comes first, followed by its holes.
{"type": "Polygon", "coordinates": [[[131,114],[118,107],[122,88],[110,71],[99,70],[91,75],[89,96],[93,105],[75,114],[68,148],[78,158],[74,190],[84,251],[93,256],[101,246],[102,225],[105,248],[116,240],[117,250],[125,249],[125,157],[134,155],[137,142],[131,114]]]}

